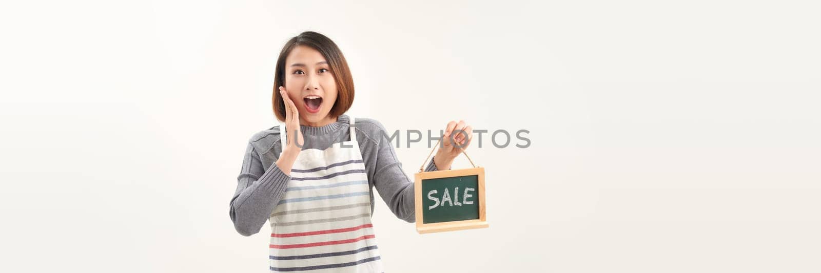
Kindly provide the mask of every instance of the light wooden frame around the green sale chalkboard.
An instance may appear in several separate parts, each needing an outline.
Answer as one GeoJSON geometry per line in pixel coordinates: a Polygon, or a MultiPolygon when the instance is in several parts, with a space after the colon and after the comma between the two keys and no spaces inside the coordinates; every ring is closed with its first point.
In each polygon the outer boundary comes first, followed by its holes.
{"type": "Polygon", "coordinates": [[[483,167],[475,167],[469,169],[460,169],[460,170],[447,170],[447,171],[425,171],[425,172],[418,172],[414,175],[414,196],[416,202],[416,232],[420,234],[432,233],[432,232],[442,232],[442,231],[452,231],[452,230],[470,230],[470,229],[481,229],[488,227],[487,218],[484,215],[484,168],[483,167]],[[436,179],[436,178],[444,178],[444,177],[454,177],[454,176],[467,176],[467,175],[477,175],[477,181],[479,183],[479,189],[477,190],[477,196],[479,197],[479,219],[473,220],[463,220],[463,221],[449,221],[449,222],[438,222],[438,223],[430,223],[430,224],[423,224],[422,223],[422,180],[429,180],[429,179],[436,179]]]}

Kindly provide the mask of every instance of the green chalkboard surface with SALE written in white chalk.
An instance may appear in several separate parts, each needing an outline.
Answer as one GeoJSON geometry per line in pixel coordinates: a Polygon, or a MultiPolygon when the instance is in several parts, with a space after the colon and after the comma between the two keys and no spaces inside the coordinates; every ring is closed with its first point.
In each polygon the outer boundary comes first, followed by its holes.
{"type": "Polygon", "coordinates": [[[478,175],[422,180],[422,222],[479,219],[478,191],[478,175]]]}

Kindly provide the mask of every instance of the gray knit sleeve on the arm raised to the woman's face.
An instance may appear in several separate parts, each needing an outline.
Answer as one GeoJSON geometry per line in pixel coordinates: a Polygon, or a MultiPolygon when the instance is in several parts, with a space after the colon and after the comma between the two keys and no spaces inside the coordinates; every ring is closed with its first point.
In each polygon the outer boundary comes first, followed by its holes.
{"type": "Polygon", "coordinates": [[[231,221],[237,232],[250,236],[258,233],[268,220],[291,176],[282,172],[276,163],[265,171],[259,153],[252,143],[248,143],[236,180],[236,192],[231,198],[231,221]]]}

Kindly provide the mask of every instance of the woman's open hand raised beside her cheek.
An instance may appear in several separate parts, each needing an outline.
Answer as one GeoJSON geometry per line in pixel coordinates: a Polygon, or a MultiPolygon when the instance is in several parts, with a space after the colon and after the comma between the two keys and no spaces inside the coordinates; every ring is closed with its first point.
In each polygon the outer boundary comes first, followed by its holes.
{"type": "MultiPolygon", "coordinates": [[[[287,132],[287,142],[282,145],[282,156],[277,159],[277,166],[286,175],[291,175],[291,167],[296,162],[296,156],[300,154],[302,148],[297,146],[305,144],[305,139],[300,132],[300,111],[297,110],[296,105],[284,87],[279,87],[279,93],[282,96],[282,101],[285,102],[285,131],[287,132]],[[296,141],[294,141],[296,140],[296,141]]],[[[280,130],[282,134],[282,130],[280,130]]]]}

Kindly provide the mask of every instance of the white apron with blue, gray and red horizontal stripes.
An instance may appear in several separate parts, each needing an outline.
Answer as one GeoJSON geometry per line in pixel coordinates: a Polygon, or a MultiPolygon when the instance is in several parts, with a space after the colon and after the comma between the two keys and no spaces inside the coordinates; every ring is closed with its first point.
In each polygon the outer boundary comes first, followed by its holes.
{"type": "MultiPolygon", "coordinates": [[[[271,271],[383,271],[370,222],[368,177],[350,120],[350,141],[305,149],[296,157],[291,181],[268,218],[271,271]]],[[[287,143],[286,134],[279,135],[287,143]]]]}

